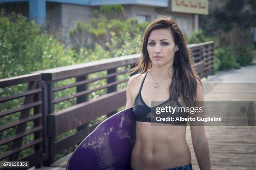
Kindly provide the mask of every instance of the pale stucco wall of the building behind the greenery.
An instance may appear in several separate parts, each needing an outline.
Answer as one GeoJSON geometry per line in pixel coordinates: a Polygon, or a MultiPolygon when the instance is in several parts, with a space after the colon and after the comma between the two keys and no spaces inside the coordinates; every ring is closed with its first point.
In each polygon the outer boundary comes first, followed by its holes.
{"type": "MultiPolygon", "coordinates": [[[[69,30],[75,28],[78,21],[87,23],[93,18],[93,11],[98,7],[86,5],[74,5],[65,3],[56,3],[53,9],[47,10],[47,18],[51,18],[51,22],[61,25],[61,32],[65,43],[69,43],[69,30]]],[[[147,15],[147,21],[153,21],[160,17],[171,17],[177,21],[182,31],[191,34],[193,30],[198,29],[198,15],[188,13],[173,13],[169,11],[162,12],[155,7],[141,5],[123,5],[124,13],[127,17],[137,18],[138,15],[147,15]]],[[[90,40],[88,41],[90,43],[90,40]]]]}

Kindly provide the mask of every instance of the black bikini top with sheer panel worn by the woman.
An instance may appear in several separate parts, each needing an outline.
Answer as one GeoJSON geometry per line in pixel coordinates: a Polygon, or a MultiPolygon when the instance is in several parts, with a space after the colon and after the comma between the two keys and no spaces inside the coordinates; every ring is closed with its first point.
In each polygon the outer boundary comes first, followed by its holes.
{"type": "MultiPolygon", "coordinates": [[[[160,105],[157,105],[155,107],[148,107],[146,103],[143,101],[142,96],[141,96],[141,89],[143,87],[143,83],[145,81],[145,78],[147,76],[148,72],[146,73],[145,77],[142,80],[140,90],[134,100],[134,106],[133,106],[133,115],[136,118],[136,121],[140,122],[151,122],[151,119],[154,118],[156,120],[156,117],[159,115],[156,115],[156,113],[152,113],[151,109],[154,110],[156,107],[165,107],[165,104],[168,104],[169,100],[166,100],[165,102],[161,103],[160,105]]],[[[178,107],[182,107],[179,102],[177,102],[178,107]]],[[[162,113],[161,113],[162,114],[162,113]]],[[[166,114],[166,113],[164,113],[166,114]]],[[[168,116],[174,117],[174,120],[176,120],[176,117],[187,117],[188,113],[187,112],[174,112],[173,114],[169,114],[168,116]]],[[[156,121],[154,121],[156,122],[156,121]]],[[[166,124],[175,124],[175,125],[180,125],[180,124],[186,124],[187,121],[161,121],[159,123],[166,123],[166,124]]]]}

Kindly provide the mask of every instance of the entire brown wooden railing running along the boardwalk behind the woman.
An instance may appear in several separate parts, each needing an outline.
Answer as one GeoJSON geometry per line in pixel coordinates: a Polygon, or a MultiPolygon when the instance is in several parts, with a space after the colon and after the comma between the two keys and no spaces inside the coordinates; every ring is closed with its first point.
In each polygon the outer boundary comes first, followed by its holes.
{"type": "MultiPolygon", "coordinates": [[[[200,77],[213,74],[214,42],[192,44],[189,47],[193,52],[195,67],[200,77]]],[[[126,84],[124,83],[127,83],[130,76],[127,72],[135,66],[139,57],[140,54],[115,57],[0,80],[0,88],[3,89],[27,83],[27,90],[0,98],[0,103],[4,104],[25,97],[21,106],[0,107],[1,119],[17,112],[19,116],[18,120],[0,124],[0,135],[2,135],[0,147],[9,145],[9,148],[1,154],[0,160],[28,160],[30,167],[43,162],[49,165],[54,161],[56,154],[80,143],[98,125],[99,122],[92,124],[92,120],[103,115],[107,117],[113,115],[125,105],[126,84]],[[101,75],[92,77],[97,73],[101,75]],[[123,78],[119,80],[120,77],[123,78]],[[65,80],[69,84],[56,86],[65,80]],[[106,83],[94,87],[92,83],[99,80],[106,80],[106,83]],[[123,88],[118,85],[123,85],[123,88]],[[105,91],[100,91],[102,95],[94,96],[95,99],[92,99],[92,94],[99,90],[105,91]],[[62,96],[62,94],[68,95],[62,96]],[[58,95],[60,97],[56,97],[58,95]],[[59,106],[65,102],[69,102],[68,107],[59,106]],[[30,113],[31,109],[33,114],[30,113]],[[26,129],[29,121],[33,122],[33,127],[26,129]],[[5,138],[5,131],[13,127],[15,134],[5,138]],[[70,131],[72,133],[68,136],[66,134],[64,138],[60,138],[70,131]],[[29,134],[33,134],[33,141],[24,144],[23,138],[29,134]],[[19,158],[22,150],[31,147],[33,153],[25,158],[19,158]]]]}

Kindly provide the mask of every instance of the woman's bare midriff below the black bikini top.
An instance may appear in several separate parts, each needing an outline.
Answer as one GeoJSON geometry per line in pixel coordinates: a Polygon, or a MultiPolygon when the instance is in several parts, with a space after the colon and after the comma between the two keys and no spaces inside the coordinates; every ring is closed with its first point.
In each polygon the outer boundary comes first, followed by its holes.
{"type": "Polygon", "coordinates": [[[136,122],[131,167],[135,170],[163,170],[191,163],[186,127],[136,122]]]}

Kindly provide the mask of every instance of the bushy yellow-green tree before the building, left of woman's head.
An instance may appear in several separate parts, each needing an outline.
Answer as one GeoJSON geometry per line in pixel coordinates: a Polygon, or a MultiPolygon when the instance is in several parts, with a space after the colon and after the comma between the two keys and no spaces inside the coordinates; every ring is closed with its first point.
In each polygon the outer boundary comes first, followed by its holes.
{"type": "Polygon", "coordinates": [[[122,47],[125,41],[123,37],[127,33],[133,39],[149,24],[148,22],[138,23],[137,18],[126,20],[121,5],[103,5],[100,11],[96,10],[94,14],[95,18],[90,19],[87,24],[78,22],[77,27],[70,31],[72,46],[77,52],[80,52],[81,48],[93,49],[96,44],[100,44],[104,50],[109,50],[111,39],[114,37],[118,37],[115,39],[115,42],[118,42],[115,47],[118,49],[122,47]],[[87,44],[89,38],[90,45],[87,44]]]}

